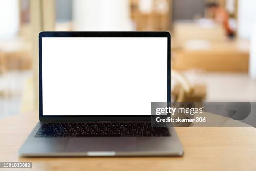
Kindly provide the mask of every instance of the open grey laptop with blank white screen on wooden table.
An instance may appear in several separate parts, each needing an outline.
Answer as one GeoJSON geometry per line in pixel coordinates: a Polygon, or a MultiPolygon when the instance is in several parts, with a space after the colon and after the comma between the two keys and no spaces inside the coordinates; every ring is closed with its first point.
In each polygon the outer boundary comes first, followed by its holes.
{"type": "Polygon", "coordinates": [[[41,32],[39,122],[20,156],[181,156],[173,127],[169,32],[41,32]]]}

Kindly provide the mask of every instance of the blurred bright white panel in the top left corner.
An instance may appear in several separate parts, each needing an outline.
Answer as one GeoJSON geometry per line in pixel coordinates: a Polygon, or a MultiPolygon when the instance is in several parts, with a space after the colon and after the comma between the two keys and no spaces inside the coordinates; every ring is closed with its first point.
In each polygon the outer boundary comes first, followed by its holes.
{"type": "Polygon", "coordinates": [[[0,38],[16,36],[20,24],[19,2],[3,0],[0,3],[0,38]]]}

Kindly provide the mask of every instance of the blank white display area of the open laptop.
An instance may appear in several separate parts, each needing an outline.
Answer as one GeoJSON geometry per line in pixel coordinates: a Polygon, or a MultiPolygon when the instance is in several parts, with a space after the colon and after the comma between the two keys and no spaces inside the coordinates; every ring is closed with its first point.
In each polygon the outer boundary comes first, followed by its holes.
{"type": "Polygon", "coordinates": [[[167,100],[167,37],[43,37],[43,115],[151,115],[167,100]]]}

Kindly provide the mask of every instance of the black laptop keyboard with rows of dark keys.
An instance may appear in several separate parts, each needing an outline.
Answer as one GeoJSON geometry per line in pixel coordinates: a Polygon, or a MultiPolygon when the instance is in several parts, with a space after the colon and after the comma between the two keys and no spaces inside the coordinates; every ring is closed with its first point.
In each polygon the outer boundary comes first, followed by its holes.
{"type": "Polygon", "coordinates": [[[44,123],[35,137],[165,137],[167,127],[151,123],[44,123]]]}

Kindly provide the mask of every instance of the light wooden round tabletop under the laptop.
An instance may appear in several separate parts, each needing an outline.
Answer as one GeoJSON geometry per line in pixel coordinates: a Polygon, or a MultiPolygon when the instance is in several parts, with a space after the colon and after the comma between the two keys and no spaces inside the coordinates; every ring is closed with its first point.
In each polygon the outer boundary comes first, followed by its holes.
{"type": "Polygon", "coordinates": [[[0,119],[0,162],[32,162],[39,171],[256,171],[253,127],[177,127],[182,157],[19,158],[18,149],[37,121],[34,113],[0,119]]]}

